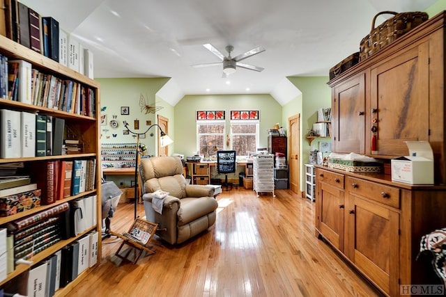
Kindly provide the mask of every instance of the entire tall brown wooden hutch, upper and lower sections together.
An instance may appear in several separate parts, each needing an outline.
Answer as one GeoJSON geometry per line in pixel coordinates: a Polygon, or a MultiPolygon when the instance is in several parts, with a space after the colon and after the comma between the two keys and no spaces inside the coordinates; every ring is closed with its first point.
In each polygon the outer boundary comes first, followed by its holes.
{"type": "Polygon", "coordinates": [[[316,234],[388,296],[433,283],[415,258],[421,237],[446,226],[445,26],[443,12],[328,83],[333,152],[392,159],[408,155],[405,141],[433,149],[433,186],[316,166],[316,234]]]}

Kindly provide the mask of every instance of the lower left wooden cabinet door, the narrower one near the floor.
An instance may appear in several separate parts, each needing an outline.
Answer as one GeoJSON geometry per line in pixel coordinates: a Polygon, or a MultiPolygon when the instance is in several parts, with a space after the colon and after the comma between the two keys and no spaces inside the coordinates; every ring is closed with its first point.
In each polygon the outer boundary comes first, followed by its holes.
{"type": "Polygon", "coordinates": [[[318,182],[316,226],[337,249],[344,251],[344,191],[325,182],[318,182]]]}

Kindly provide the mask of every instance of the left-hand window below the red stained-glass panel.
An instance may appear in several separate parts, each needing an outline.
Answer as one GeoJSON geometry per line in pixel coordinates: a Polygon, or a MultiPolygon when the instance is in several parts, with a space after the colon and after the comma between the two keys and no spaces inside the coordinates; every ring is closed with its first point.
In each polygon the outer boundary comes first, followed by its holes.
{"type": "Polygon", "coordinates": [[[224,121],[197,121],[197,148],[205,157],[217,154],[224,149],[224,121]]]}

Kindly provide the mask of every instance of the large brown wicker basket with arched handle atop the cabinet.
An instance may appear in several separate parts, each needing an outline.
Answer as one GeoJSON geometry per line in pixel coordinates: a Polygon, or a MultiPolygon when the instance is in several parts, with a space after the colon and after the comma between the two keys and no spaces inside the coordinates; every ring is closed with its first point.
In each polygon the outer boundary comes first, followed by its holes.
{"type": "Polygon", "coordinates": [[[380,49],[390,45],[394,40],[397,40],[397,38],[408,33],[408,31],[427,19],[429,19],[429,15],[420,11],[413,13],[382,11],[377,13],[371,22],[370,34],[362,38],[360,42],[360,61],[364,61],[380,49]],[[375,28],[376,17],[384,14],[394,15],[394,17],[387,19],[387,21],[375,28]]]}

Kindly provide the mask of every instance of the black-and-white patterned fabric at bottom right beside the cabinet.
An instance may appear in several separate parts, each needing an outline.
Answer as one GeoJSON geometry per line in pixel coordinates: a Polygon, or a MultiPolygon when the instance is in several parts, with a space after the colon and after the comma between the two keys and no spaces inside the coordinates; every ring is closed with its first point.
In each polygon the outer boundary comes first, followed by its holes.
{"type": "Polygon", "coordinates": [[[446,228],[422,236],[420,254],[423,252],[433,255],[433,269],[446,286],[446,228]]]}

